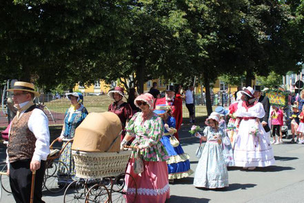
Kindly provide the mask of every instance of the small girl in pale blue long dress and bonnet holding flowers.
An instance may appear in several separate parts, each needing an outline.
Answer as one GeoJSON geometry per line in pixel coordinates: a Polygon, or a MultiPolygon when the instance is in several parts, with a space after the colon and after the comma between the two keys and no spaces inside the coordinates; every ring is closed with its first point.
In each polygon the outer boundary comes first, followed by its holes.
{"type": "Polygon", "coordinates": [[[225,131],[219,127],[219,117],[214,114],[206,119],[206,123],[208,126],[203,131],[205,136],[199,133],[195,135],[206,141],[206,144],[196,167],[194,186],[207,189],[223,188],[229,186],[227,167],[221,147],[225,131]]]}

